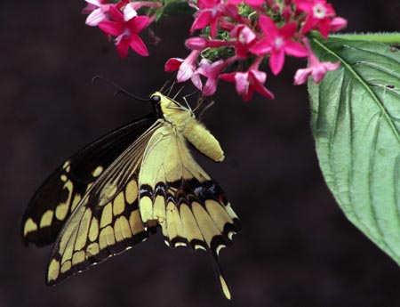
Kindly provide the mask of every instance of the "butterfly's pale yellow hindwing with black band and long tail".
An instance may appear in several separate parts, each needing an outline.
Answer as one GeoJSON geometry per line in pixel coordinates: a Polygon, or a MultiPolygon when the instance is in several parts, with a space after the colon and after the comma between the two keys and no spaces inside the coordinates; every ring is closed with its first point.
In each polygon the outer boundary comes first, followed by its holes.
{"type": "Polygon", "coordinates": [[[231,299],[218,254],[240,231],[239,221],[220,186],[196,163],[184,136],[171,125],[159,128],[148,142],[139,186],[142,221],[161,226],[168,246],[212,254],[222,293],[231,299]]]}

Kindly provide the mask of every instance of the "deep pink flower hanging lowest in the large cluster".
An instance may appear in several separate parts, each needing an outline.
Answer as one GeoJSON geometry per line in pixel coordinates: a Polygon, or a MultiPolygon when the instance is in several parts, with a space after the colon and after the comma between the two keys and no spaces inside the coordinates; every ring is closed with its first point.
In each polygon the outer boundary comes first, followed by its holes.
{"type": "Polygon", "coordinates": [[[258,69],[261,60],[262,57],[256,60],[254,64],[252,64],[252,67],[245,72],[237,71],[223,74],[220,75],[220,79],[228,82],[235,82],[236,92],[243,97],[244,101],[250,101],[254,91],[269,99],[273,99],[274,94],[264,87],[264,83],[267,80],[267,74],[258,69]]]}

